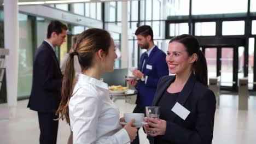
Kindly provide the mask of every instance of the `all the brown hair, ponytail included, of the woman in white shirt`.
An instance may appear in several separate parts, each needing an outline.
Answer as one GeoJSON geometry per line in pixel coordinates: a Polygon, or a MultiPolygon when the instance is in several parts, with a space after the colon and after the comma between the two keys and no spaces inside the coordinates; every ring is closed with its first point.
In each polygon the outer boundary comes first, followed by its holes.
{"type": "Polygon", "coordinates": [[[69,51],[69,57],[67,59],[62,82],[62,99],[59,109],[56,111],[56,114],[61,113],[60,118],[62,120],[65,118],[67,123],[69,123],[68,103],[72,97],[75,83],[74,56],[78,56],[79,64],[81,65],[82,71],[84,71],[91,67],[94,54],[98,50],[102,49],[106,55],[108,54],[110,40],[110,34],[103,29],[87,29],[83,33],[79,34],[77,43],[75,43],[74,47],[69,51]]]}

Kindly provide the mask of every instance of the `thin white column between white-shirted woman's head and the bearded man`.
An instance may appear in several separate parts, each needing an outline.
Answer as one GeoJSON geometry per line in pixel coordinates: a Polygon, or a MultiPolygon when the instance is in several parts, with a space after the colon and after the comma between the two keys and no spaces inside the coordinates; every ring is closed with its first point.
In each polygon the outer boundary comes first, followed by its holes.
{"type": "Polygon", "coordinates": [[[128,68],[128,18],[127,1],[122,2],[121,68],[128,68]]]}

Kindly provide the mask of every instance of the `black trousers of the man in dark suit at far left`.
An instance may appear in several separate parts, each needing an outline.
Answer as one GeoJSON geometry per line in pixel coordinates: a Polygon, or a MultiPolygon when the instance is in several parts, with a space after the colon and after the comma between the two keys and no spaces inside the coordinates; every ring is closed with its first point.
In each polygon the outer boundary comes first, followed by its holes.
{"type": "Polygon", "coordinates": [[[38,112],[40,144],[56,144],[59,121],[55,113],[38,112]]]}

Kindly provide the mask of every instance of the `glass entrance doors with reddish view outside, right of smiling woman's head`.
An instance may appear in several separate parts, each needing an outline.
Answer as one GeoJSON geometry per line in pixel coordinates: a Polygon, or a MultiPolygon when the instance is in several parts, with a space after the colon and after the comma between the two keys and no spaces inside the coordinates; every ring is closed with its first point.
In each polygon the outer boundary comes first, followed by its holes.
{"type": "Polygon", "coordinates": [[[237,91],[238,47],[202,47],[202,51],[206,57],[208,79],[220,76],[220,88],[237,91]]]}

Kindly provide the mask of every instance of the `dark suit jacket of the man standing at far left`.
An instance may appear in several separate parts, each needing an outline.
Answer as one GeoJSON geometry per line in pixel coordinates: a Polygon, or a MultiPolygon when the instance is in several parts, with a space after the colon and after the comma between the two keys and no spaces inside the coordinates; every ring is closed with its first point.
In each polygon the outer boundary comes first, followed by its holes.
{"type": "Polygon", "coordinates": [[[38,112],[55,112],[61,100],[62,74],[53,48],[43,41],[33,64],[33,82],[28,107],[38,112]]]}

